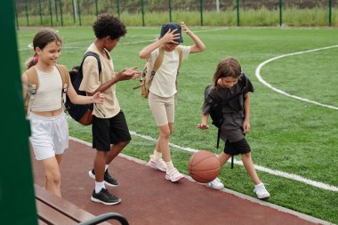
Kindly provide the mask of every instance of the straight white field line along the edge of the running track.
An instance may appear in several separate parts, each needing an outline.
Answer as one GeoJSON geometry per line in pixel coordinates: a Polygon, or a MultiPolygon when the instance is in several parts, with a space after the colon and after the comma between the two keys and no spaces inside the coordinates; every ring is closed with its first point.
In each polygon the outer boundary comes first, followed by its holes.
{"type": "MultiPolygon", "coordinates": [[[[152,138],[150,136],[142,135],[140,133],[135,133],[133,131],[130,131],[130,133],[132,135],[136,136],[136,137],[140,137],[140,138],[148,140],[148,141],[157,142],[157,139],[152,138]]],[[[198,149],[191,149],[191,148],[188,148],[188,147],[182,147],[182,146],[170,143],[170,142],[169,142],[169,146],[171,146],[173,148],[176,148],[176,149],[181,149],[181,150],[189,151],[189,152],[192,152],[192,153],[195,153],[195,152],[198,151],[198,149]]],[[[234,164],[243,165],[242,161],[238,161],[236,159],[234,159],[234,164]]],[[[269,169],[269,168],[265,168],[264,166],[261,166],[261,165],[254,165],[254,167],[258,171],[262,171],[264,173],[270,173],[270,174],[273,174],[273,175],[276,175],[276,176],[279,176],[279,177],[284,177],[284,178],[287,178],[287,179],[290,179],[290,180],[294,180],[294,181],[300,181],[300,182],[309,184],[311,186],[317,187],[319,189],[338,191],[338,187],[335,187],[333,185],[329,185],[329,184],[326,184],[326,183],[323,183],[323,182],[311,181],[310,179],[303,178],[302,176],[299,176],[299,175],[295,175],[295,174],[291,174],[291,173],[286,173],[286,172],[282,172],[282,171],[278,171],[278,170],[272,170],[272,169],[269,169]]]]}

